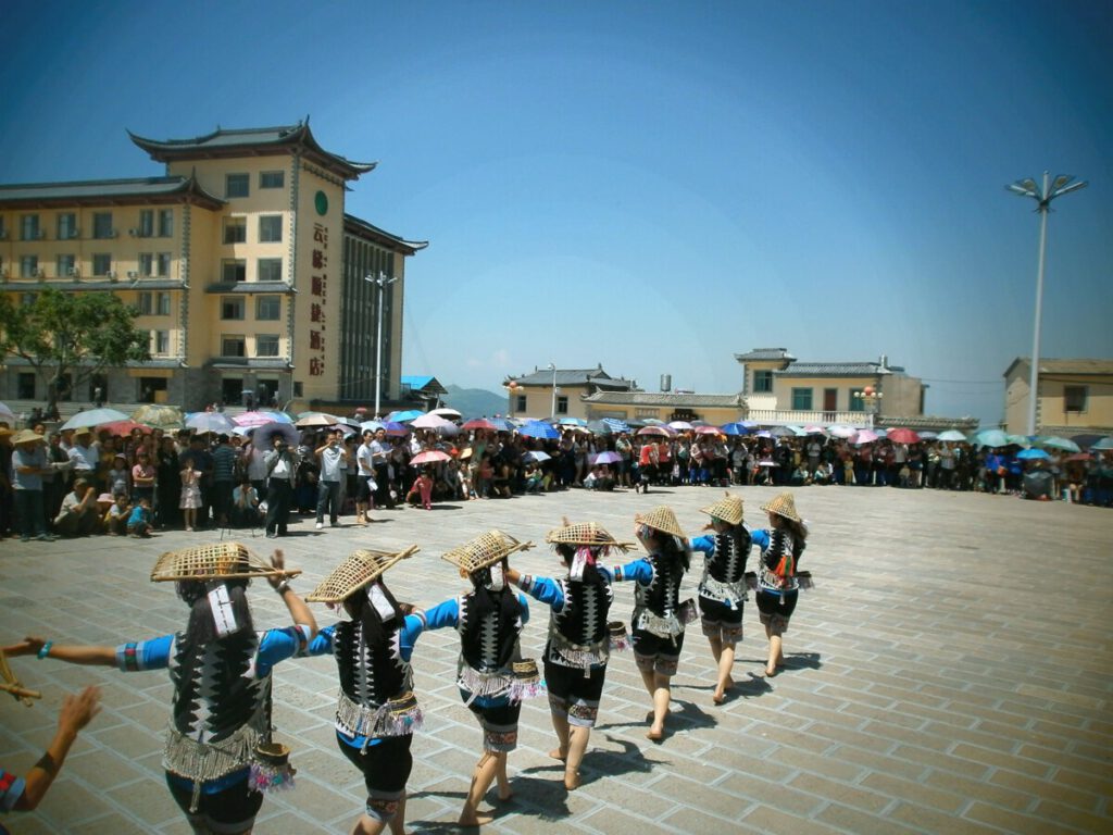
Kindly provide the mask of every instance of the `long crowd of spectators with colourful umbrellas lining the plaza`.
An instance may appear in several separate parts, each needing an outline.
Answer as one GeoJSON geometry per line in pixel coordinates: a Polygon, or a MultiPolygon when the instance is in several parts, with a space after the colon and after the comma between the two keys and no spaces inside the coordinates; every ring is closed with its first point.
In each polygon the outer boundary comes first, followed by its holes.
{"type": "Polygon", "coordinates": [[[308,430],[298,434],[296,448],[282,453],[282,478],[275,479],[278,453],[269,444],[257,448],[250,435],[137,429],[116,438],[93,430],[46,433],[41,423],[16,433],[0,424],[0,536],[146,537],[165,529],[264,524],[268,534],[280,536],[287,512],[315,514],[321,530],[326,515],[332,525],[345,515],[365,524],[372,513],[406,503],[432,509],[436,502],[570,488],[841,485],[1020,495],[1034,468],[1048,474],[1052,497],[1113,504],[1113,453],[1107,451],[1048,450],[1046,460],[1025,461],[1018,446],[935,440],[855,444],[818,434],[560,430],[551,440],[491,430],[454,435],[421,429],[308,430]],[[443,453],[443,460],[411,465],[415,455],[430,451],[443,453]],[[24,489],[31,492],[20,495],[24,489]]]}

